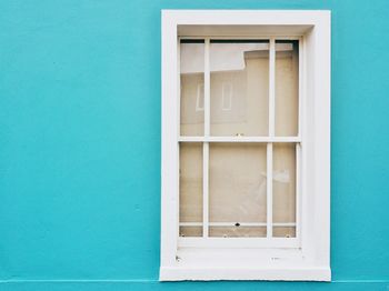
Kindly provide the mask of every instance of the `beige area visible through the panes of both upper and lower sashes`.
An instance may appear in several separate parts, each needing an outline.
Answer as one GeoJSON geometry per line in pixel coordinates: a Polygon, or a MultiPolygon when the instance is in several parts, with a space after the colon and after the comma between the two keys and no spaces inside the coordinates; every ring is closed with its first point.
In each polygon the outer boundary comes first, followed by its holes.
{"type": "MultiPolygon", "coordinates": [[[[276,54],[276,136],[298,133],[298,49],[276,54]]],[[[268,52],[246,53],[241,71],[211,72],[211,134],[267,136],[268,52]],[[223,110],[222,87],[233,88],[223,110]]],[[[203,136],[197,108],[202,73],[181,74],[181,134],[203,136]]],[[[210,222],[266,222],[266,144],[210,143],[210,222]]],[[[180,222],[202,222],[202,143],[180,144],[180,222]]],[[[273,143],[273,222],[296,222],[296,144],[273,143]]],[[[210,237],[266,237],[266,228],[211,227],[210,237]]],[[[180,235],[201,237],[201,227],[180,235]]],[[[296,237],[295,227],[275,227],[275,237],[296,237]]]]}

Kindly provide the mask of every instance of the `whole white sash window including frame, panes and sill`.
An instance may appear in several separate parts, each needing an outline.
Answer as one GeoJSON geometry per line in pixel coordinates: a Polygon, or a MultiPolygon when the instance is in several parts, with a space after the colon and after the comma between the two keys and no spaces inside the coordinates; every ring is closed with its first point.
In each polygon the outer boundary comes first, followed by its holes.
{"type": "Polygon", "coordinates": [[[329,17],[163,11],[161,280],[330,280],[329,17]]]}

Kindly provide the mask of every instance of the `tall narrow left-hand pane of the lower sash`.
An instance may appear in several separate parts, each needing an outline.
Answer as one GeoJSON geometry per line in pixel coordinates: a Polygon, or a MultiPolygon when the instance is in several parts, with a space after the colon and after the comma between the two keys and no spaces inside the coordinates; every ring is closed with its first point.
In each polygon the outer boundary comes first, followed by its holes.
{"type": "Polygon", "coordinates": [[[180,144],[180,222],[202,222],[202,144],[180,144]]]}

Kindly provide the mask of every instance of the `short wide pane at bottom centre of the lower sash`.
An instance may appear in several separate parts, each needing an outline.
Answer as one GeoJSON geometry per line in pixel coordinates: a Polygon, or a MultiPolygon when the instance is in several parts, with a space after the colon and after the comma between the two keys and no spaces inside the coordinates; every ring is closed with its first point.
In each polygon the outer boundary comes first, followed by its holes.
{"type": "Polygon", "coordinates": [[[265,238],[265,227],[211,227],[209,235],[216,238],[265,238]]]}

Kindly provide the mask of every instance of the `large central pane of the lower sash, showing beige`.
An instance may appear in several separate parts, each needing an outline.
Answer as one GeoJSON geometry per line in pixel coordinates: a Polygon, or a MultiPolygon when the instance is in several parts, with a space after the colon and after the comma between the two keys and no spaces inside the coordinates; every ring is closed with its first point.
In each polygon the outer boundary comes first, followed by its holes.
{"type": "MultiPolygon", "coordinates": [[[[266,146],[211,143],[210,223],[266,222],[266,146]]],[[[237,233],[251,231],[255,228],[241,228],[237,233]]]]}

